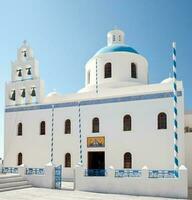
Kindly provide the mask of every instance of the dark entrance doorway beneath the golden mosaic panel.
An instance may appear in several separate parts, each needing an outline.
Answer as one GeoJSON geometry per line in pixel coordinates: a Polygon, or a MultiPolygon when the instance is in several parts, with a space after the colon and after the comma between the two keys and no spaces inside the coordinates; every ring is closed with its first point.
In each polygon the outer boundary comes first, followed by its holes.
{"type": "Polygon", "coordinates": [[[105,175],[105,152],[93,151],[88,152],[88,175],[104,176],[105,175]]]}

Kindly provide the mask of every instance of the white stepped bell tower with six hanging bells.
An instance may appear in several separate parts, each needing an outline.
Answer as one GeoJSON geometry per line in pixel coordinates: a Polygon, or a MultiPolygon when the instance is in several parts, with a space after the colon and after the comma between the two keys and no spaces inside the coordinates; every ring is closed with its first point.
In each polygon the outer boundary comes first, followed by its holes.
{"type": "Polygon", "coordinates": [[[23,42],[12,62],[11,81],[6,83],[6,106],[42,103],[44,82],[40,79],[39,63],[33,50],[23,42]]]}

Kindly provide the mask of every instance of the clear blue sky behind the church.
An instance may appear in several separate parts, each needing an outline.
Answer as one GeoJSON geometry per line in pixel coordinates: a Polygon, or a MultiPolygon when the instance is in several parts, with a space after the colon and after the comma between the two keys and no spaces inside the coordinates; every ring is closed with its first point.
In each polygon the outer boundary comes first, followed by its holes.
{"type": "Polygon", "coordinates": [[[176,41],[178,78],[184,82],[185,107],[191,109],[191,9],[191,0],[0,0],[0,157],[4,85],[25,39],[40,62],[47,93],[80,89],[86,61],[105,46],[106,33],[114,27],[148,59],[151,83],[169,76],[171,43],[176,41]]]}

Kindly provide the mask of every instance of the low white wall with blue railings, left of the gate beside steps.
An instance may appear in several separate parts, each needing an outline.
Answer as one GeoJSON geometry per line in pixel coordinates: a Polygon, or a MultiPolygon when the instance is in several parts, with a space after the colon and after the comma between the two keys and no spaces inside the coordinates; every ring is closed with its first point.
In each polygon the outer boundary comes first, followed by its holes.
{"type": "Polygon", "coordinates": [[[0,173],[19,174],[34,187],[55,188],[55,166],[51,163],[44,168],[28,168],[25,165],[18,167],[0,166],[0,173]]]}

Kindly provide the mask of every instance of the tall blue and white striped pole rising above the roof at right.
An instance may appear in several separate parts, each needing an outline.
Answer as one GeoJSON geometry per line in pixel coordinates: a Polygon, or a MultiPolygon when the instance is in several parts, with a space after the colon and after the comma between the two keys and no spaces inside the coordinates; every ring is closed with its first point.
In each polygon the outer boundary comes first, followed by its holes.
{"type": "Polygon", "coordinates": [[[178,123],[177,123],[177,71],[176,71],[176,43],[173,42],[173,104],[174,104],[174,170],[175,176],[178,177],[178,123]]]}

